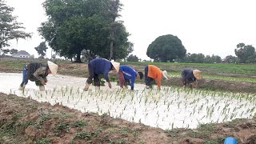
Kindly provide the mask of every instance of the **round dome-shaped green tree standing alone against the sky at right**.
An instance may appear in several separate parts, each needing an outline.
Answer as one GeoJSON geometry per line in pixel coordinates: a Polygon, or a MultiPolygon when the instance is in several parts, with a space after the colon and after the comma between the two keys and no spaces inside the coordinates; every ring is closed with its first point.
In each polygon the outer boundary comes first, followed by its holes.
{"type": "Polygon", "coordinates": [[[148,46],[146,55],[158,62],[174,62],[176,58],[184,58],[186,49],[182,41],[174,35],[162,35],[148,46]]]}

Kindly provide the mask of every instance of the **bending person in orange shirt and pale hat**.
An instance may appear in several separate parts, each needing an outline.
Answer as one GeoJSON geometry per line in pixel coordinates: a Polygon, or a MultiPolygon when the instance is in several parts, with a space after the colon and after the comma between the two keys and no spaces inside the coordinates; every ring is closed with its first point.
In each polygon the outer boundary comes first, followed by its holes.
{"type": "Polygon", "coordinates": [[[152,88],[151,82],[157,80],[158,89],[160,90],[162,77],[168,79],[168,74],[166,70],[162,71],[154,65],[148,65],[145,67],[145,82],[147,89],[152,88]]]}

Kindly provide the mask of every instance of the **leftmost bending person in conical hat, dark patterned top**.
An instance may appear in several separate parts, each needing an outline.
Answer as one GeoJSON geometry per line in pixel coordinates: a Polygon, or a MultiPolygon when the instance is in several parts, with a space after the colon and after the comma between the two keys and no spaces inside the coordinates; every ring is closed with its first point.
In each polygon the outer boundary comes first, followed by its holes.
{"type": "Polygon", "coordinates": [[[56,75],[57,70],[58,65],[50,61],[47,62],[47,65],[43,65],[42,63],[38,62],[32,62],[24,66],[22,83],[19,86],[18,90],[24,90],[29,80],[31,82],[35,82],[36,86],[39,86],[39,90],[45,90],[47,75],[56,75]]]}

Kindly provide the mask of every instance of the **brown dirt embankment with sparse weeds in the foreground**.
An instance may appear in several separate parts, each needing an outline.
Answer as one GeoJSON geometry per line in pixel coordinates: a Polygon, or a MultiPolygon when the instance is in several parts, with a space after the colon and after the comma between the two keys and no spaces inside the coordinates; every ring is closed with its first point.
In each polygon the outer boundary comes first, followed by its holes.
{"type": "Polygon", "coordinates": [[[162,130],[0,93],[0,143],[256,143],[256,119],[162,130]]]}

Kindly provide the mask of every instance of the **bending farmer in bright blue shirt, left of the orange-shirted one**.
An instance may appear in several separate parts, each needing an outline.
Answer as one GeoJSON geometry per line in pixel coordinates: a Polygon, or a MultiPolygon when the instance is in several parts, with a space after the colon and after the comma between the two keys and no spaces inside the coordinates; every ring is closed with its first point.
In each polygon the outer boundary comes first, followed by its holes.
{"type": "Polygon", "coordinates": [[[120,87],[124,88],[130,85],[130,89],[134,90],[134,82],[136,78],[143,78],[142,72],[137,72],[136,70],[130,68],[129,66],[120,66],[118,71],[120,87]],[[131,81],[131,82],[130,82],[131,81]]]}

